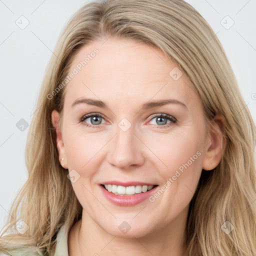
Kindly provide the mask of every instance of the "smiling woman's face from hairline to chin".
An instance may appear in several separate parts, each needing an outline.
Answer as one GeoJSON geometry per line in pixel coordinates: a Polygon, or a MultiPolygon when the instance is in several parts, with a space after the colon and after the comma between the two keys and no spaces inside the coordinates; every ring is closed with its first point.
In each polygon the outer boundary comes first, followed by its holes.
{"type": "Polygon", "coordinates": [[[192,84],[130,39],[83,46],[71,72],[57,143],[83,215],[126,237],[183,225],[211,141],[192,84]]]}

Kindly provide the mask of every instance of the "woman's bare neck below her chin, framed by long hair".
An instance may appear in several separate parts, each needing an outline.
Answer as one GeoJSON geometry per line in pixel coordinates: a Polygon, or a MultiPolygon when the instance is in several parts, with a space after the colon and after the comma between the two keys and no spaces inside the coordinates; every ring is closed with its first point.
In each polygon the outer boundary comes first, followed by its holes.
{"type": "Polygon", "coordinates": [[[118,237],[107,233],[83,210],[82,218],[68,234],[69,256],[175,255],[185,256],[183,244],[188,208],[176,219],[142,237],[118,237]]]}

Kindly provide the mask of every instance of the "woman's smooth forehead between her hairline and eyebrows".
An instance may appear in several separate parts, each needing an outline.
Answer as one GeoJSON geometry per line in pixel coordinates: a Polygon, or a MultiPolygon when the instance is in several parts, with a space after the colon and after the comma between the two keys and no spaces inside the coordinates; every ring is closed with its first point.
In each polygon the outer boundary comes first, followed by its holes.
{"type": "Polygon", "coordinates": [[[75,75],[65,88],[69,105],[82,96],[125,103],[171,97],[188,106],[199,100],[191,82],[164,53],[133,39],[109,38],[84,45],[71,63],[72,71],[75,75]]]}

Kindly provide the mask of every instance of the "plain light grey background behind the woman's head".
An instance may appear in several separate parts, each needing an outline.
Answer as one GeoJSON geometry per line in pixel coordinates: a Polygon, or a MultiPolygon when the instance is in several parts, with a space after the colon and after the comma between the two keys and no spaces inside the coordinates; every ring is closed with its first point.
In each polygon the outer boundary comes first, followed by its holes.
{"type": "MultiPolygon", "coordinates": [[[[10,202],[27,179],[24,149],[40,84],[61,29],[84,0],[0,0],[0,229],[10,202]],[[20,29],[23,15],[29,24],[20,29]]],[[[256,122],[256,0],[187,0],[222,43],[256,122]],[[228,15],[232,22],[224,18],[228,15]],[[223,19],[224,18],[224,19],[223,19]],[[222,20],[222,21],[221,21],[222,20]],[[223,25],[222,25],[222,24],[223,25]],[[225,23],[225,24],[224,24],[225,23]]],[[[24,24],[24,20],[22,22],[24,24]]]]}

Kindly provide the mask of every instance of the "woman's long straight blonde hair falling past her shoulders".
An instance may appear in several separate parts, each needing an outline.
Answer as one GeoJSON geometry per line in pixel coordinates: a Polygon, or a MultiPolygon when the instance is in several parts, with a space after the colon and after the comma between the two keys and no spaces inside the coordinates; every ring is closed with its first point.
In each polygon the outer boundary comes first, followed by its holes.
{"type": "Polygon", "coordinates": [[[67,172],[60,166],[51,111],[60,113],[65,88],[49,99],[68,74],[81,46],[109,36],[157,47],[193,83],[206,120],[225,119],[226,146],[217,167],[202,175],[190,202],[185,244],[190,256],[256,255],[255,126],[216,35],[183,0],[106,0],[81,7],[64,28],[48,64],[26,144],[28,179],[15,198],[0,251],[54,254],[55,235],[81,217],[67,172]],[[12,217],[11,217],[12,216],[12,217]],[[15,225],[23,220],[22,235],[15,225]],[[221,225],[234,229],[226,234],[221,225]]]}

